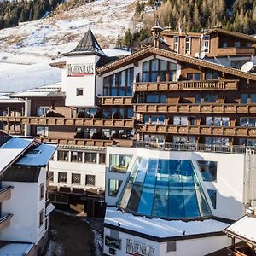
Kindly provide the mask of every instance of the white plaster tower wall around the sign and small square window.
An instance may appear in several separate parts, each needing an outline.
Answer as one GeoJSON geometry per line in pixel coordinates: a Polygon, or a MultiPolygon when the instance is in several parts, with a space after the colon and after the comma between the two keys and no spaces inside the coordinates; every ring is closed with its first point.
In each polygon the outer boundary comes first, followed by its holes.
{"type": "MultiPolygon", "coordinates": [[[[67,68],[66,77],[62,77],[66,80],[66,106],[73,107],[91,107],[95,106],[95,96],[96,96],[96,70],[95,64],[98,56],[96,55],[79,55],[79,56],[68,56],[67,57],[67,67],[68,64],[86,64],[94,63],[94,73],[86,74],[82,77],[68,77],[67,68]],[[76,96],[77,88],[83,88],[84,95],[76,96]]],[[[65,83],[65,82],[64,82],[65,83]]]]}

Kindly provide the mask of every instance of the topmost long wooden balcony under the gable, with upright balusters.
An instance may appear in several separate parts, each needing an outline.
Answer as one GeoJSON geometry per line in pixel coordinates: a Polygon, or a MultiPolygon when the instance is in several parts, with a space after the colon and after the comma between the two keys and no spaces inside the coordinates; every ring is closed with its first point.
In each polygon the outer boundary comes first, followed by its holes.
{"type": "Polygon", "coordinates": [[[140,82],[134,84],[134,89],[136,91],[238,90],[238,84],[238,80],[140,82]]]}

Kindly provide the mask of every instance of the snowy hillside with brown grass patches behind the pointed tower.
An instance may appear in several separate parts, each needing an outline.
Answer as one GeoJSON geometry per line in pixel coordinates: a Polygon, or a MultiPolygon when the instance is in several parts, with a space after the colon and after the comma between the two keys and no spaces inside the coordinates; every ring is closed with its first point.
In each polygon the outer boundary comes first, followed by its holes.
{"type": "Polygon", "coordinates": [[[131,27],[135,3],[96,0],[0,30],[0,91],[25,90],[61,80],[60,70],[48,65],[51,58],[73,49],[89,26],[103,49],[113,47],[118,34],[131,27]]]}

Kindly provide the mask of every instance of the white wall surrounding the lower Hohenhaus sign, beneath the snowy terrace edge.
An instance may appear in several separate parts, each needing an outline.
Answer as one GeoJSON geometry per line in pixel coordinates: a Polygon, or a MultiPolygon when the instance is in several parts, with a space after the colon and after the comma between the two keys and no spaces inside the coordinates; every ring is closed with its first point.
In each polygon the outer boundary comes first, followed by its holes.
{"type": "MultiPolygon", "coordinates": [[[[152,235],[154,236],[154,230],[152,231],[152,235]]],[[[104,228],[104,236],[110,236],[110,230],[108,228],[104,228]]],[[[225,235],[180,240],[176,241],[177,250],[175,252],[167,252],[167,242],[149,241],[142,237],[132,236],[123,232],[119,232],[119,239],[121,239],[121,250],[116,249],[115,255],[117,256],[130,255],[126,253],[126,239],[155,247],[154,255],[150,256],[204,256],[208,253],[218,251],[223,247],[230,246],[231,241],[225,235]]],[[[105,245],[104,241],[104,253],[109,254],[108,252],[109,247],[105,245]]]]}

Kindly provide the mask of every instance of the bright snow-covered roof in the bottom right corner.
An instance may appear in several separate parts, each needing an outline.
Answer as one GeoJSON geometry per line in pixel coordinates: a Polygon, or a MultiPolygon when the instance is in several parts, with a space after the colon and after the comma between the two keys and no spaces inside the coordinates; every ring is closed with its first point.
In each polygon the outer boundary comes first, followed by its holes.
{"type": "Polygon", "coordinates": [[[243,241],[256,246],[256,216],[247,214],[238,219],[225,229],[230,236],[235,236],[243,241]]]}

